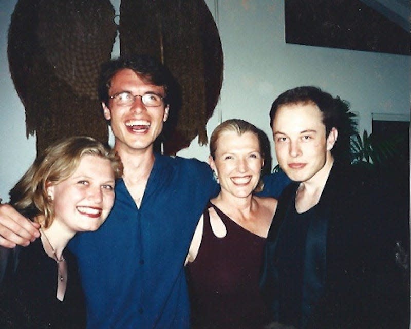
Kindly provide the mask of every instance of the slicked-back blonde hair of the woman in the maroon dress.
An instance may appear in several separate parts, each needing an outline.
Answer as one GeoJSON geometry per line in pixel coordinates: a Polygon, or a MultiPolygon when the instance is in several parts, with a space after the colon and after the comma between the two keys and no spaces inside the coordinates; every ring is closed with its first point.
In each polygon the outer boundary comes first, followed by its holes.
{"type": "MultiPolygon", "coordinates": [[[[226,131],[233,131],[241,136],[246,132],[251,132],[254,134],[258,139],[258,146],[259,152],[261,154],[261,158],[265,158],[263,145],[264,145],[264,138],[263,138],[263,131],[258,129],[253,124],[249,123],[248,121],[241,120],[241,119],[230,119],[220,123],[212,132],[210,138],[210,155],[215,160],[215,152],[217,150],[217,142],[220,138],[221,134],[226,131]]],[[[255,188],[255,192],[260,192],[263,190],[263,181],[260,179],[257,187],[255,188]]]]}

